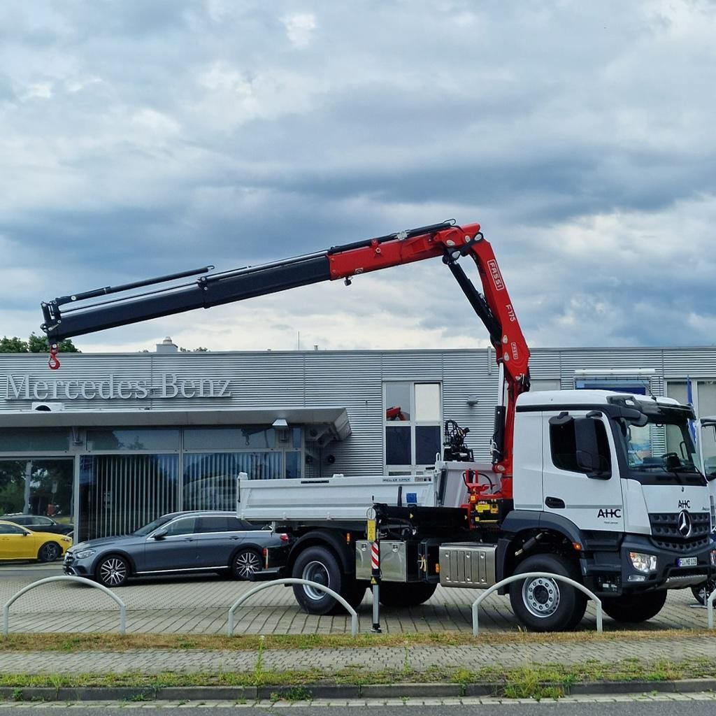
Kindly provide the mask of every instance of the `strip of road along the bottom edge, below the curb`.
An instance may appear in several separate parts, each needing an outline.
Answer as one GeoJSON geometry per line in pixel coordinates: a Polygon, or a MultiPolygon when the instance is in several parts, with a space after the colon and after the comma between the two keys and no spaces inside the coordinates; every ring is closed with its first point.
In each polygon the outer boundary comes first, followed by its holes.
{"type": "MultiPolygon", "coordinates": [[[[329,704],[315,702],[309,706],[296,705],[291,702],[262,702],[261,705],[234,705],[228,702],[207,702],[202,705],[191,704],[168,704],[165,702],[126,702],[122,705],[108,705],[106,703],[97,705],[72,704],[73,714],[79,716],[122,716],[127,710],[141,708],[142,711],[159,710],[163,714],[182,714],[183,716],[203,716],[207,709],[218,708],[222,712],[236,712],[241,714],[265,714],[267,711],[281,712],[290,707],[290,713],[294,716],[344,716],[347,712],[358,712],[358,709],[368,710],[370,716],[394,716],[396,713],[405,716],[468,716],[479,715],[504,715],[504,716],[612,716],[617,710],[620,716],[712,716],[716,709],[716,697],[714,695],[701,695],[704,700],[689,698],[683,701],[671,700],[667,695],[657,697],[622,697],[618,701],[589,701],[584,700],[561,700],[558,702],[480,702],[475,700],[463,703],[435,702],[435,704],[402,704],[400,702],[390,705],[375,704],[370,702],[348,702],[348,704],[329,704]],[[642,700],[638,700],[641,698],[642,700]]],[[[673,697],[672,697],[673,698],[673,697]]],[[[28,710],[42,708],[62,708],[67,711],[68,704],[61,702],[28,703],[22,706],[0,705],[0,713],[6,716],[21,716],[28,710]]]]}

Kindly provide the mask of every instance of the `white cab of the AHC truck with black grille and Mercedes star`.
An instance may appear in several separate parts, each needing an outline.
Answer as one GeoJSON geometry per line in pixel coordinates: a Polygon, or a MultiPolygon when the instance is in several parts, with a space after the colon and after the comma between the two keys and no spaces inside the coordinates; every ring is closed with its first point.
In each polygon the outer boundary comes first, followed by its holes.
{"type": "MultiPolygon", "coordinates": [[[[566,535],[585,586],[607,598],[699,584],[714,553],[693,419],[692,407],[667,397],[521,395],[514,511],[503,529],[536,522],[539,531],[566,535]]],[[[665,594],[652,599],[663,604],[665,594]]]]}

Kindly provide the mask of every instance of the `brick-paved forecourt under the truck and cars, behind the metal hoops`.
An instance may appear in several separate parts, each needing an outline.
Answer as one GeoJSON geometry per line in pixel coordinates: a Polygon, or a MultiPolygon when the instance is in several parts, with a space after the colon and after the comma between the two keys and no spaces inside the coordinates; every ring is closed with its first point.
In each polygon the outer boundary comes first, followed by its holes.
{"type": "MultiPolygon", "coordinates": [[[[33,576],[3,576],[0,566],[0,604],[42,576],[62,574],[59,564],[39,570],[33,576]]],[[[216,577],[136,582],[116,589],[127,606],[127,632],[163,634],[226,634],[228,609],[253,588],[250,582],[216,577]]],[[[381,610],[386,633],[471,632],[471,604],[479,592],[473,589],[442,589],[422,606],[412,609],[381,610]]],[[[689,629],[706,626],[705,609],[692,607],[690,589],[672,591],[667,604],[654,619],[642,624],[644,631],[689,629]]],[[[370,594],[359,607],[361,630],[371,624],[370,594]]],[[[119,609],[99,589],[78,584],[46,584],[24,594],[10,608],[11,632],[116,632],[119,609]]],[[[343,634],[350,630],[350,618],[305,614],[294,601],[291,588],[276,586],[253,596],[236,611],[236,634],[343,634]]],[[[594,607],[589,606],[583,629],[596,627],[594,607]]],[[[605,629],[618,629],[605,616],[605,629]]],[[[490,595],[480,609],[480,630],[516,632],[518,622],[506,597],[490,595]]]]}

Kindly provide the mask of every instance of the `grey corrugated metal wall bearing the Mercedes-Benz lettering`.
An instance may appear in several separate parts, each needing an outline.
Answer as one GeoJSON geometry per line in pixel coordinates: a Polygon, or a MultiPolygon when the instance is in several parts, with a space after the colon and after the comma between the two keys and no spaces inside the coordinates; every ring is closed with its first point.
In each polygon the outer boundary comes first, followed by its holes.
{"type": "MultiPolygon", "coordinates": [[[[65,410],[162,410],[345,407],[352,435],[329,445],[335,462],[324,474],[383,471],[385,381],[440,382],[442,415],[470,428],[470,445],[488,457],[498,370],[485,349],[421,351],[65,354],[50,372],[40,354],[0,354],[0,411],[29,409],[34,400],[65,410]],[[84,396],[82,392],[84,391],[84,396]],[[110,397],[111,391],[111,397],[110,397]],[[468,396],[477,405],[468,405],[468,396]],[[69,397],[68,397],[69,396],[69,397]]],[[[654,395],[665,382],[716,379],[716,347],[534,349],[535,380],[574,387],[578,369],[653,369],[654,395]]],[[[315,468],[314,468],[315,470],[315,468]]],[[[314,472],[312,470],[312,472],[314,472]]]]}

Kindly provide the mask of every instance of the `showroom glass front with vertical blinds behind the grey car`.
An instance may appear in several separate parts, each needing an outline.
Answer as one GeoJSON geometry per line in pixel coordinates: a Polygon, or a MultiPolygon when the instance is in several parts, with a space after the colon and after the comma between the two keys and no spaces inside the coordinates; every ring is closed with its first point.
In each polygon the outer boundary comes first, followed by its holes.
{"type": "Polygon", "coordinates": [[[300,478],[303,430],[266,425],[87,430],[78,541],[183,510],[236,509],[236,478],[300,478]]]}

